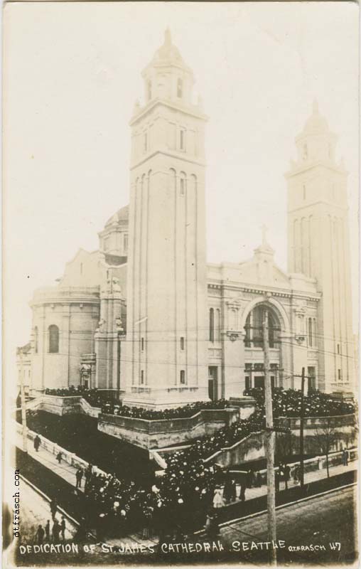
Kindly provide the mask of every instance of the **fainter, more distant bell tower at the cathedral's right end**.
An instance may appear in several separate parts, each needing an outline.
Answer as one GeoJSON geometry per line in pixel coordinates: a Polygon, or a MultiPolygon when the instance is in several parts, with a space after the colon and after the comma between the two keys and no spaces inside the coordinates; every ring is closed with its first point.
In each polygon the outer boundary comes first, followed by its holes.
{"type": "Polygon", "coordinates": [[[317,386],[328,392],[353,390],[355,379],[347,172],[336,139],[315,101],[286,174],[289,272],[316,278],[322,293],[308,349],[318,350],[317,386]]]}

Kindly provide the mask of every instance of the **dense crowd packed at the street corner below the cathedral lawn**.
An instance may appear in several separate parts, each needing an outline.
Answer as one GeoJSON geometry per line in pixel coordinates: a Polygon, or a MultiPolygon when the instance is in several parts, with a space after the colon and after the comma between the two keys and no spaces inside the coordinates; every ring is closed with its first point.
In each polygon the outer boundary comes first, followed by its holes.
{"type": "Polygon", "coordinates": [[[149,486],[93,472],[90,465],[84,487],[88,523],[97,529],[99,540],[133,531],[141,531],[144,538],[184,536],[204,523],[207,511],[218,507],[215,496],[223,477],[222,469],[208,467],[201,459],[190,462],[181,451],[171,457],[163,477],[149,486]]]}

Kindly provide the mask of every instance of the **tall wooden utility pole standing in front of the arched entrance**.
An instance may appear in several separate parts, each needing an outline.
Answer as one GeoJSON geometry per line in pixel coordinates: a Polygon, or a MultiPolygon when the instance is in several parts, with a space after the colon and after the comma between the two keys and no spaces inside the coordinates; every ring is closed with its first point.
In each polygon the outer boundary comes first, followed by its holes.
{"type": "Polygon", "coordinates": [[[266,461],[267,461],[267,523],[268,539],[271,541],[271,565],[276,565],[276,491],[274,485],[274,421],[272,413],[272,389],[269,368],[269,329],[268,312],[264,311],[263,347],[264,347],[264,400],[266,407],[266,461]]]}

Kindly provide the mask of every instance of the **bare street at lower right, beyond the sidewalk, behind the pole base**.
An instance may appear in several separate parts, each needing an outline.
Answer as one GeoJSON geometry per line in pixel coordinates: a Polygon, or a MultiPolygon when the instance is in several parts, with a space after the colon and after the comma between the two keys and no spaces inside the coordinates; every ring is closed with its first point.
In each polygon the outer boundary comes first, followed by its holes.
{"type": "MultiPolygon", "coordinates": [[[[276,511],[277,540],[285,543],[278,550],[279,560],[293,563],[325,562],[350,563],[355,555],[356,486],[333,491],[276,511]],[[295,531],[296,528],[296,531],[295,531]],[[339,542],[340,551],[333,550],[330,543],[339,542]],[[297,546],[325,546],[325,551],[289,551],[297,546]]],[[[250,551],[252,542],[267,541],[266,514],[253,519],[230,523],[221,528],[225,549],[239,548],[238,543],[247,543],[249,549],[239,553],[248,562],[264,559],[264,551],[250,551]],[[235,544],[235,542],[238,542],[235,544]],[[233,546],[232,546],[233,544],[233,546]]],[[[247,546],[244,546],[247,548],[247,546]]]]}

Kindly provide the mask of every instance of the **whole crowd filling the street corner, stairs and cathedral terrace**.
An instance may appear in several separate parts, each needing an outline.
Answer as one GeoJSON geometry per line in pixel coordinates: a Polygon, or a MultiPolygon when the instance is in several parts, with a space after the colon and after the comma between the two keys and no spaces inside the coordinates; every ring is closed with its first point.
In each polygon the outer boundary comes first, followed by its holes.
{"type": "MultiPolygon", "coordinates": [[[[94,391],[89,390],[87,395],[96,398],[97,394],[94,391]]],[[[75,388],[72,394],[74,392],[77,392],[75,388]]],[[[61,395],[61,393],[55,394],[61,395]]],[[[163,475],[153,479],[149,485],[129,482],[115,474],[104,475],[93,472],[90,464],[85,472],[85,496],[94,516],[93,521],[99,539],[113,532],[119,536],[139,529],[143,531],[144,538],[152,534],[161,537],[169,531],[173,531],[175,535],[184,535],[199,528],[201,524],[205,523],[207,526],[208,522],[211,530],[215,531],[217,525],[215,510],[235,498],[235,480],[230,479],[230,475],[217,467],[217,464],[205,462],[205,459],[222,447],[229,447],[253,432],[264,430],[264,392],[262,389],[252,389],[247,395],[252,395],[257,403],[256,410],[249,418],[224,427],[213,435],[200,437],[190,447],[173,452],[167,457],[167,468],[163,475]],[[223,485],[225,490],[222,493],[220,489],[223,485]]],[[[179,413],[172,416],[189,416],[186,414],[207,408],[207,405],[200,402],[179,410],[157,412],[145,409],[134,410],[119,405],[121,410],[119,414],[124,415],[124,410],[126,413],[129,410],[129,413],[132,411],[135,415],[127,416],[142,418],[168,418],[168,412],[179,413]]],[[[227,406],[227,401],[212,402],[212,405],[224,408],[227,406]]],[[[301,393],[276,388],[273,390],[273,405],[274,418],[299,416],[301,393]]],[[[354,410],[352,403],[335,400],[319,392],[310,393],[304,398],[305,416],[343,415],[354,410]]],[[[260,482],[257,477],[256,480],[257,483],[260,482]]],[[[81,483],[82,477],[80,482],[77,477],[77,487],[81,487],[81,483]]],[[[241,484],[241,492],[236,496],[237,499],[244,501],[245,488],[246,485],[241,484]]]]}

